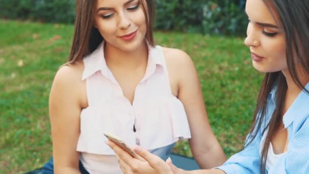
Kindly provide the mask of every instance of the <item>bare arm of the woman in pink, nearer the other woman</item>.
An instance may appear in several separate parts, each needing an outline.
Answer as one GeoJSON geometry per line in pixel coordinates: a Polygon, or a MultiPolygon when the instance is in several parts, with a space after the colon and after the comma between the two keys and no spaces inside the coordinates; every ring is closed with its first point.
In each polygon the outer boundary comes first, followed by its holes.
{"type": "Polygon", "coordinates": [[[174,74],[177,74],[176,78],[179,79],[178,98],[188,116],[192,135],[189,143],[193,156],[201,168],[222,165],[226,157],[210,128],[199,77],[190,56],[181,50],[173,49],[166,53],[166,59],[168,66],[171,67],[170,75],[173,76],[172,71],[176,71],[174,74]],[[175,58],[168,60],[169,56],[175,58]],[[173,66],[176,66],[177,70],[173,69],[173,66]]]}

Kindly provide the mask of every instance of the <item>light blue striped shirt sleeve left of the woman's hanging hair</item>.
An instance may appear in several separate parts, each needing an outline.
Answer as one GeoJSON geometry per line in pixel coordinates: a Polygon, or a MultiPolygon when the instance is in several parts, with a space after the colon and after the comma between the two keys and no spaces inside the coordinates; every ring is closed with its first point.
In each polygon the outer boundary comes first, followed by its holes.
{"type": "MultiPolygon", "coordinates": [[[[250,135],[247,136],[247,140],[250,135]]],[[[222,166],[216,167],[229,173],[260,173],[261,131],[242,151],[230,157],[222,166]]]]}

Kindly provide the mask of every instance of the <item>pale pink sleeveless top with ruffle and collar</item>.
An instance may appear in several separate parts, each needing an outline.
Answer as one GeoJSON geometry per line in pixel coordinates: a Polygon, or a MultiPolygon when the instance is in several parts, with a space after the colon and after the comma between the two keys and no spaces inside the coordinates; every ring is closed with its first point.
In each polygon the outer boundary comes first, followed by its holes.
{"type": "Polygon", "coordinates": [[[146,73],[136,87],[131,105],[106,65],[103,45],[104,42],[83,60],[82,80],[86,80],[88,107],[81,111],[77,151],[81,152],[85,168],[103,168],[90,161],[109,163],[110,159],[104,160],[107,156],[115,163],[108,166],[117,166],[114,152],[105,144],[104,132],[120,137],[131,147],[139,144],[148,150],[191,138],[184,107],[171,92],[162,47],[148,47],[146,73]]]}

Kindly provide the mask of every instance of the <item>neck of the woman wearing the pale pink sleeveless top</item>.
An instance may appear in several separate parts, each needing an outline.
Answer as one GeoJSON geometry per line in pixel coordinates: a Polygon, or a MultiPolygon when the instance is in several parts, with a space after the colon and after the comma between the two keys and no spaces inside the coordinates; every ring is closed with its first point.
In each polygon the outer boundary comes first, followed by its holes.
{"type": "Polygon", "coordinates": [[[104,55],[108,67],[134,70],[140,66],[146,66],[148,60],[148,49],[146,42],[143,42],[134,51],[120,50],[113,45],[106,43],[104,55]]]}

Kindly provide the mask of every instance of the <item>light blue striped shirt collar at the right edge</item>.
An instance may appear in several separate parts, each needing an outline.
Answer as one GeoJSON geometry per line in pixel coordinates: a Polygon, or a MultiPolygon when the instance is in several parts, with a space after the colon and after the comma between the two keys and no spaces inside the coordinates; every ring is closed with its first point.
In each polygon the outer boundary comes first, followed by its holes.
{"type": "MultiPolygon", "coordinates": [[[[309,82],[305,85],[304,88],[309,91],[309,82]]],[[[298,123],[303,120],[303,117],[308,117],[308,101],[309,94],[302,90],[297,96],[297,98],[294,100],[290,108],[284,114],[283,124],[285,128],[291,125],[294,121],[298,123]]]]}

